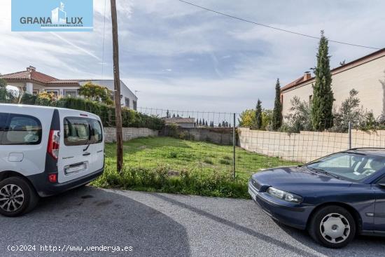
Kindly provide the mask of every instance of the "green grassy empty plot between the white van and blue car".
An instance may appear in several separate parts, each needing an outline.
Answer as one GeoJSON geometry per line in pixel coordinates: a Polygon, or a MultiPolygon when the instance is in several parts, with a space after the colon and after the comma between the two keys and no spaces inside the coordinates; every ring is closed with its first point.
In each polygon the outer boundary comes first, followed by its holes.
{"type": "Polygon", "coordinates": [[[248,197],[247,181],[260,169],[295,162],[236,148],[232,179],[232,146],[172,137],[146,137],[124,144],[125,168],[116,172],[116,145],[106,144],[106,172],[95,186],[196,195],[248,197]]]}

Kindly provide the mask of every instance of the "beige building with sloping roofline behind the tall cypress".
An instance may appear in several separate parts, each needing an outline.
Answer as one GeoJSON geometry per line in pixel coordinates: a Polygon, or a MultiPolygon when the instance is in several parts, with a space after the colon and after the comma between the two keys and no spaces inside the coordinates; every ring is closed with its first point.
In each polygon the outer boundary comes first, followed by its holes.
{"type": "MultiPolygon", "coordinates": [[[[385,113],[385,48],[331,70],[334,106],[338,108],[349,97],[349,91],[358,91],[360,104],[374,117],[385,113]]],[[[293,97],[309,101],[313,95],[315,78],[305,73],[292,83],[281,88],[283,117],[290,113],[293,97]]]]}

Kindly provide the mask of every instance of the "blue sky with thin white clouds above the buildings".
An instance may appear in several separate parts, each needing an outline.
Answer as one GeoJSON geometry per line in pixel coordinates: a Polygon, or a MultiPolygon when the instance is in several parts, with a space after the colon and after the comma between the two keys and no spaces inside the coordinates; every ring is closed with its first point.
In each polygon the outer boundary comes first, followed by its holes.
{"type": "MultiPolygon", "coordinates": [[[[314,67],[318,41],[202,11],[177,0],[116,0],[120,76],[139,106],[241,112],[258,98],[271,108],[274,85],[314,67]]],[[[223,13],[295,32],[385,46],[385,2],[191,0],[223,13]]],[[[0,73],[29,65],[57,78],[112,78],[110,1],[94,0],[94,32],[10,32],[10,0],[0,8],[0,73]],[[102,69],[102,63],[104,68],[102,69]],[[104,72],[102,72],[102,70],[104,72]]],[[[331,66],[374,50],[330,43],[331,66]]]]}

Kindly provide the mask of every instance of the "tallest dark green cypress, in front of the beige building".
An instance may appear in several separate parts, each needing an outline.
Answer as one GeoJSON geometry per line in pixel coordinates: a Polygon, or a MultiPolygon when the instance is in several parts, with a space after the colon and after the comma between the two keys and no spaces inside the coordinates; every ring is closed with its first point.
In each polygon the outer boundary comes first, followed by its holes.
{"type": "Polygon", "coordinates": [[[332,127],[332,107],[335,99],[332,92],[328,39],[324,36],[323,31],[321,31],[316,56],[317,66],[314,69],[316,81],[313,84],[313,99],[311,100],[311,123],[313,130],[327,130],[332,127]]]}

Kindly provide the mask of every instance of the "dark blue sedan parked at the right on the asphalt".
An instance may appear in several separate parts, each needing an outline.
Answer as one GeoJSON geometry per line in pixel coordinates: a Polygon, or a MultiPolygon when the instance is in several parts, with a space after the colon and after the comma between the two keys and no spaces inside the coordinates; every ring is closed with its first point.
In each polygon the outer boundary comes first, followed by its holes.
{"type": "Polygon", "coordinates": [[[385,236],[385,149],[355,148],[251,176],[248,193],[277,221],[341,248],[355,235],[385,236]]]}

